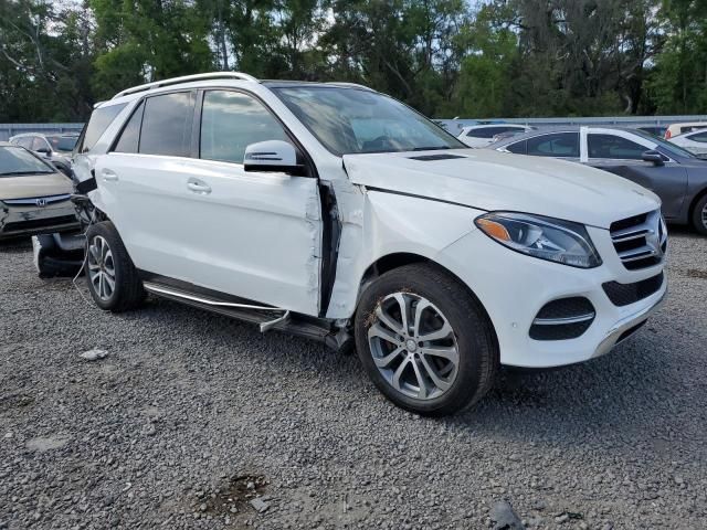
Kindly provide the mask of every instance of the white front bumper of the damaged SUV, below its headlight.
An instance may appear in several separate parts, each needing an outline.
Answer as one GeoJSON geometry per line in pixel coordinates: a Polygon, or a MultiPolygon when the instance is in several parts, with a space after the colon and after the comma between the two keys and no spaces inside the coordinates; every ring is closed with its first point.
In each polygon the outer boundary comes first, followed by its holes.
{"type": "Polygon", "coordinates": [[[582,269],[526,256],[492,241],[478,230],[446,247],[441,265],[456,274],[478,297],[494,325],[502,364],[550,368],[602,356],[627,338],[659,307],[667,279],[652,295],[625,306],[614,305],[602,285],[633,284],[659,275],[662,263],[629,271],[619,259],[609,231],[588,227],[603,264],[582,269]],[[579,337],[535,340],[529,329],[549,301],[587,298],[595,316],[579,337]]]}

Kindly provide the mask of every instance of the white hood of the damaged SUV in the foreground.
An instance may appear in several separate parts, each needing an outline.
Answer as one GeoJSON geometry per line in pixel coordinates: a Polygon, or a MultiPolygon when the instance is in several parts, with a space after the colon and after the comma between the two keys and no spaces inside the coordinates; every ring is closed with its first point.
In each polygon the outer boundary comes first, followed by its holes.
{"type": "Polygon", "coordinates": [[[489,149],[345,155],[344,167],[351,182],[368,188],[602,229],[661,204],[653,192],[605,171],[489,149]]]}

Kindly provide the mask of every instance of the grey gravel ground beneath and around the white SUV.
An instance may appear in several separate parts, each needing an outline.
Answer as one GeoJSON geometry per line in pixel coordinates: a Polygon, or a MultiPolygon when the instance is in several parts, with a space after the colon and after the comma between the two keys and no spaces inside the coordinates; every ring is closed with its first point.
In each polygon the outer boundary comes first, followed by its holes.
{"type": "Polygon", "coordinates": [[[356,357],[165,300],[104,314],[2,244],[0,529],[479,529],[504,499],[529,528],[707,528],[706,253],[674,234],[666,306],[611,354],[433,421],[356,357]]]}

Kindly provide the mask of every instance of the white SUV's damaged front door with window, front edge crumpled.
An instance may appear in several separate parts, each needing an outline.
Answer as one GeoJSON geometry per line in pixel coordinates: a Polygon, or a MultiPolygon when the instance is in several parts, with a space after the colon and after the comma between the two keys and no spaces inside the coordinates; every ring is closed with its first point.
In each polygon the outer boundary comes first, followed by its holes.
{"type": "Polygon", "coordinates": [[[321,214],[317,179],[245,172],[246,146],[285,140],[258,100],[203,93],[199,157],[180,174],[187,202],[184,276],[203,287],[305,315],[319,312],[321,214]]]}

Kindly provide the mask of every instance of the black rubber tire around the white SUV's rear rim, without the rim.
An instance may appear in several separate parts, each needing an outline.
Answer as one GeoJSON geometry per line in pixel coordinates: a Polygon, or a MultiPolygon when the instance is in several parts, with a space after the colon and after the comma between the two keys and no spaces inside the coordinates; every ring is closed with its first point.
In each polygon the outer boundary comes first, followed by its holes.
{"type": "Polygon", "coordinates": [[[101,309],[113,312],[127,311],[139,307],[146,297],[143,282],[113,223],[110,221],[103,221],[92,224],[86,232],[86,284],[96,305],[101,309]],[[115,287],[112,289],[109,296],[98,294],[89,268],[91,247],[97,243],[98,239],[107,243],[113,257],[112,265],[115,275],[115,287]]]}

